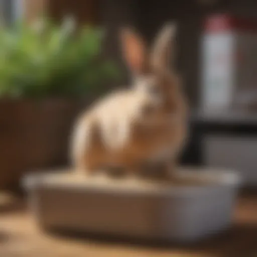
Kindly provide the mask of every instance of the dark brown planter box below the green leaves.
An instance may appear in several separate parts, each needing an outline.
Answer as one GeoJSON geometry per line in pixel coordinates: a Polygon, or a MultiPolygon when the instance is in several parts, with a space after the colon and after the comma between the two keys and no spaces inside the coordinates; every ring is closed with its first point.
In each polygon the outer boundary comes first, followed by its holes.
{"type": "Polygon", "coordinates": [[[0,100],[0,189],[25,172],[65,164],[81,102],[0,100]]]}

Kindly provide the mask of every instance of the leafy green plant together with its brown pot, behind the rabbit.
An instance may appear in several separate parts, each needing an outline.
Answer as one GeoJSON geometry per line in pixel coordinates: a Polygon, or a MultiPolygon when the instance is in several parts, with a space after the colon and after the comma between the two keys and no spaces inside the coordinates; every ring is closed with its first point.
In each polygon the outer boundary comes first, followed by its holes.
{"type": "Polygon", "coordinates": [[[72,19],[0,28],[0,188],[24,171],[60,164],[81,103],[119,72],[100,58],[103,31],[72,19]]]}

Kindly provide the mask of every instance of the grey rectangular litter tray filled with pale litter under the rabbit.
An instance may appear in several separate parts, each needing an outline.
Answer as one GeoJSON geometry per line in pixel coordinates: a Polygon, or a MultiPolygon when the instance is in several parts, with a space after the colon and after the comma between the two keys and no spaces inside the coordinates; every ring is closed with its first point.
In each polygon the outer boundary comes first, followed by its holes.
{"type": "Polygon", "coordinates": [[[195,241],[231,225],[239,177],[234,172],[181,169],[208,181],[161,182],[79,178],[71,172],[28,175],[31,211],[46,228],[165,241],[195,241]]]}

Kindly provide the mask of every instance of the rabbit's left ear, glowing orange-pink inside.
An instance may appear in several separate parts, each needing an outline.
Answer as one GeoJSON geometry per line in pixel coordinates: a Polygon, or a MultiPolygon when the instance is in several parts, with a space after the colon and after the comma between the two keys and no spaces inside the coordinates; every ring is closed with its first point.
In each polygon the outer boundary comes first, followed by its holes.
{"type": "Polygon", "coordinates": [[[123,57],[133,73],[142,73],[146,60],[146,46],[143,40],[132,30],[120,31],[123,57]]]}

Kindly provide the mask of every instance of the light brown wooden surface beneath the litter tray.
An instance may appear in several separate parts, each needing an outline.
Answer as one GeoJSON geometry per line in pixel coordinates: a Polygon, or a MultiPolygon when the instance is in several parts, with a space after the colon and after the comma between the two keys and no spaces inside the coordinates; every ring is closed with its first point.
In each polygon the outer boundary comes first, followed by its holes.
{"type": "Polygon", "coordinates": [[[257,257],[257,195],[238,199],[230,231],[196,245],[149,245],[39,231],[23,201],[0,206],[1,257],[257,257]]]}

